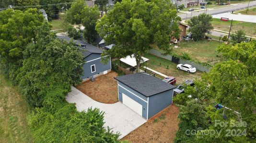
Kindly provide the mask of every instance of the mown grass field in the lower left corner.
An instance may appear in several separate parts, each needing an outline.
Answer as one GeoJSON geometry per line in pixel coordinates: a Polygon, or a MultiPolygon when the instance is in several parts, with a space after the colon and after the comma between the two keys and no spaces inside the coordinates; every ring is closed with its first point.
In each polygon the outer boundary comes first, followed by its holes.
{"type": "Polygon", "coordinates": [[[17,89],[0,74],[0,143],[33,143],[26,122],[28,112],[17,89]]]}

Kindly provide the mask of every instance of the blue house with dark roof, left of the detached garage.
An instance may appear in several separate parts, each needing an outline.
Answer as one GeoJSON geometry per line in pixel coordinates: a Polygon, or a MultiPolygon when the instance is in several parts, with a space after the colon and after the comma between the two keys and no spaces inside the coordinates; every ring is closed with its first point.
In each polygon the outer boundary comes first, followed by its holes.
{"type": "MultiPolygon", "coordinates": [[[[71,38],[66,36],[57,36],[57,38],[71,41],[71,38]]],[[[81,40],[73,40],[73,42],[76,46],[81,46],[85,50],[82,52],[83,60],[86,61],[83,65],[83,76],[81,77],[83,81],[111,72],[111,59],[109,58],[106,64],[101,62],[102,49],[81,40]]]]}

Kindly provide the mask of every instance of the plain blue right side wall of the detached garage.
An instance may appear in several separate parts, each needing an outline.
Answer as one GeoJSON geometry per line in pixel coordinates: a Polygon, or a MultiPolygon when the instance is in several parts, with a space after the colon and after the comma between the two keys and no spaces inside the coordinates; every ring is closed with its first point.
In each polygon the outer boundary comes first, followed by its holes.
{"type": "Polygon", "coordinates": [[[162,111],[167,106],[171,105],[172,101],[173,101],[173,89],[150,96],[148,119],[150,119],[156,113],[162,111]]]}

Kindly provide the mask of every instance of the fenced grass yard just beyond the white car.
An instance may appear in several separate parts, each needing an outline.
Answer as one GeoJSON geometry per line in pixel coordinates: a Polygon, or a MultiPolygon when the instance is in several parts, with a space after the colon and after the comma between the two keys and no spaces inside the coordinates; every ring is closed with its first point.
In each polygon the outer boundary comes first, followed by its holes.
{"type": "Polygon", "coordinates": [[[215,51],[220,45],[221,42],[218,41],[182,41],[178,45],[179,48],[173,50],[178,54],[187,52],[192,59],[207,62],[220,60],[219,57],[216,57],[218,53],[215,51]]]}

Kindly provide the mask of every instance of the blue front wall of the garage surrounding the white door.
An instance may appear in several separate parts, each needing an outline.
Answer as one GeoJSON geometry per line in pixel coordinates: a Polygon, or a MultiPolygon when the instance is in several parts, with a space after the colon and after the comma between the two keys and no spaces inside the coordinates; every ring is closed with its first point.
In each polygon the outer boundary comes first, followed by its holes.
{"type": "Polygon", "coordinates": [[[125,84],[123,84],[122,82],[117,82],[118,84],[118,99],[120,102],[123,102],[122,99],[122,93],[124,93],[125,95],[127,95],[128,97],[130,97],[132,100],[140,103],[140,105],[142,105],[142,117],[144,117],[145,119],[147,119],[147,110],[148,110],[148,98],[143,96],[142,94],[140,94],[139,92],[134,91],[133,89],[129,88],[128,86],[126,86],[125,84]],[[121,87],[122,86],[122,87],[121,87]],[[128,92],[129,91],[129,92],[128,92]],[[133,95],[133,94],[137,95],[133,95]],[[140,97],[140,98],[139,98],[140,97]]]}

